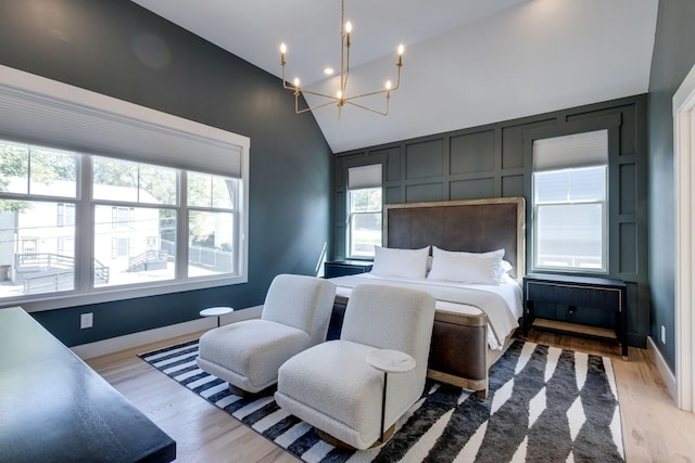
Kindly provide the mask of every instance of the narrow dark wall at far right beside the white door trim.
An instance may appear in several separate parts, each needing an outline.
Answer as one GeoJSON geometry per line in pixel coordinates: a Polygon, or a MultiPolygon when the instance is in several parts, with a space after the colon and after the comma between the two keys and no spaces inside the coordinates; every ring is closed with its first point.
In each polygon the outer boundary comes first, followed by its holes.
{"type": "Polygon", "coordinates": [[[649,77],[650,335],[675,370],[673,94],[695,64],[695,2],[659,1],[649,77]],[[661,326],[666,344],[661,343],[661,326]]]}

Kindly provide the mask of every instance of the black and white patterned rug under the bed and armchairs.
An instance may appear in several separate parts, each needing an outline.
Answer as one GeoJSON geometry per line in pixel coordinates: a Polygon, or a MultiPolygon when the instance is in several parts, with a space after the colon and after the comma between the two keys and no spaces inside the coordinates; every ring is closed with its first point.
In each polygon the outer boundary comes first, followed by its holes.
{"type": "Polygon", "coordinates": [[[198,368],[198,340],[140,357],[305,462],[623,462],[607,357],[515,340],[490,371],[490,395],[428,381],[386,446],[334,448],[273,396],[242,399],[198,368]]]}

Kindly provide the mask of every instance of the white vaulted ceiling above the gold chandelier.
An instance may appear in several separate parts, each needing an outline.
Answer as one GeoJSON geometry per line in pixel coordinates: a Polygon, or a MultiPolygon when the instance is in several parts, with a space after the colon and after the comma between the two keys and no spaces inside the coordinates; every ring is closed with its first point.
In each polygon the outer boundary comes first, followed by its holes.
{"type": "MultiPolygon", "coordinates": [[[[340,0],[134,1],[278,77],[285,42],[288,80],[338,90],[323,69],[340,67],[340,0]]],[[[657,0],[345,0],[346,97],[394,80],[403,42],[401,88],[386,117],[344,106],[339,118],[333,105],[314,117],[339,153],[644,93],[657,9],[657,0]]]]}

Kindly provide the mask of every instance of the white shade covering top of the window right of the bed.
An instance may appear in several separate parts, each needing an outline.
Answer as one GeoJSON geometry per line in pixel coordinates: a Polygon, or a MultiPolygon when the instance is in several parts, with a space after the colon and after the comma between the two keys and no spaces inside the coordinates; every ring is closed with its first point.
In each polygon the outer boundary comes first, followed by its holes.
{"type": "Polygon", "coordinates": [[[601,166],[608,163],[608,130],[533,141],[533,171],[601,166]]]}

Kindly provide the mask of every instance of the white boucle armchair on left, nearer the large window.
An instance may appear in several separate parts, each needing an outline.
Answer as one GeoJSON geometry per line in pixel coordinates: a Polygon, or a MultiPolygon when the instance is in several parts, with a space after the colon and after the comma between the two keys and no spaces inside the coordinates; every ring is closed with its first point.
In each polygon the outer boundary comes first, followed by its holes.
{"type": "Polygon", "coordinates": [[[280,274],[270,283],[261,319],[208,331],[198,365],[231,388],[258,393],[277,383],[278,369],[295,353],[326,340],[336,285],[314,276],[280,274]]]}

